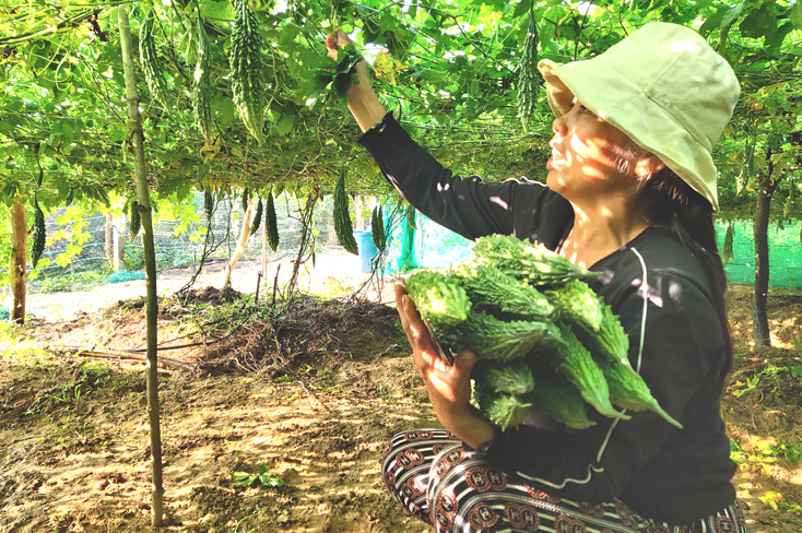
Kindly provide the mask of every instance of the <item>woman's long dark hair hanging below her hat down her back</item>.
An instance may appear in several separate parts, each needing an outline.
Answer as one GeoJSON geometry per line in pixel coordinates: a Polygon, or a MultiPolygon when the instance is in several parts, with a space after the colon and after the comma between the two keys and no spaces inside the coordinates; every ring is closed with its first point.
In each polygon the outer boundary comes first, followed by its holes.
{"type": "Polygon", "coordinates": [[[724,305],[727,274],[716,244],[712,204],[669,167],[646,178],[641,198],[648,203],[652,223],[670,226],[707,274],[724,341],[727,358],[720,374],[723,388],[732,367],[732,337],[724,305]]]}

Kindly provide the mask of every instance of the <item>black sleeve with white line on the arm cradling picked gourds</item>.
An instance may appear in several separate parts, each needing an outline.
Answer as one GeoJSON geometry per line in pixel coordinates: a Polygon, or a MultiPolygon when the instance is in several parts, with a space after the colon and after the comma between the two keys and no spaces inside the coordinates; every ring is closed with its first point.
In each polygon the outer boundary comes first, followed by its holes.
{"type": "MultiPolygon", "coordinates": [[[[613,310],[627,332],[633,368],[665,412],[684,424],[689,400],[723,363],[711,303],[693,282],[667,274],[633,285],[613,310]]],[[[597,425],[588,429],[497,431],[486,458],[552,496],[599,504],[617,497],[670,440],[683,439],[682,430],[652,412],[613,421],[592,411],[597,425]]]]}

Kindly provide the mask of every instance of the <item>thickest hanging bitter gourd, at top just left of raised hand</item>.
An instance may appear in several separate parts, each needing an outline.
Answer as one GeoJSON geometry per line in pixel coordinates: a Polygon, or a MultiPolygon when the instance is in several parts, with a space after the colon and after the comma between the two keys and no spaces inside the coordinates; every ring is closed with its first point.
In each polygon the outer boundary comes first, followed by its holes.
{"type": "Polygon", "coordinates": [[[248,0],[234,0],[234,26],[228,51],[234,104],[245,127],[262,142],[264,82],[262,80],[262,33],[248,0]]]}

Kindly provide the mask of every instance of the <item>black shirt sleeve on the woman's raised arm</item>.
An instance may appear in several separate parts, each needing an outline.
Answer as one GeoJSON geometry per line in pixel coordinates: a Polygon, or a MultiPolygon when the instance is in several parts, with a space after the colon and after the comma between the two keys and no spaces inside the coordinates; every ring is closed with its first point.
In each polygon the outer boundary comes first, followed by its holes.
{"type": "MultiPolygon", "coordinates": [[[[368,130],[359,143],[401,196],[441,226],[472,240],[517,233],[515,202],[519,181],[485,182],[479,176],[462,178],[453,174],[415,143],[391,114],[368,130]]],[[[544,187],[538,189],[546,191],[544,187]]],[[[536,206],[531,192],[528,191],[527,205],[536,206]]]]}

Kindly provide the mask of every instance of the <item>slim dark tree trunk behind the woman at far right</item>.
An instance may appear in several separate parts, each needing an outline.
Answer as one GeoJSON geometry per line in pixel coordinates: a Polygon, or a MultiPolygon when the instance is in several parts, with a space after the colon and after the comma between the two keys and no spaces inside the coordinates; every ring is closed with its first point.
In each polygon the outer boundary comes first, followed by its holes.
{"type": "MultiPolygon", "coordinates": [[[[769,178],[765,178],[769,179],[769,178]]],[[[752,332],[756,346],[770,346],[768,329],[768,223],[772,190],[758,176],[755,211],[755,291],[752,295],[752,332]]]]}

